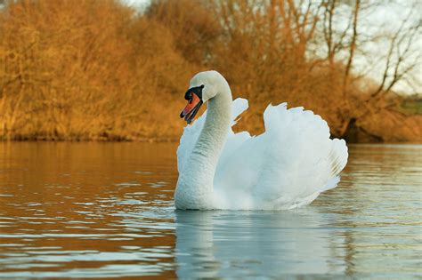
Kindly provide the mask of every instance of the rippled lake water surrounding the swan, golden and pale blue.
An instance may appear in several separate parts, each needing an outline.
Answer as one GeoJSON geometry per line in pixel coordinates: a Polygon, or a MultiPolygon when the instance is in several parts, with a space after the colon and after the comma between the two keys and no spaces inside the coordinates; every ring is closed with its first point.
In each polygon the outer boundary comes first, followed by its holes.
{"type": "Polygon", "coordinates": [[[176,144],[0,143],[0,278],[422,276],[422,146],[285,212],[176,212],[176,144]]]}

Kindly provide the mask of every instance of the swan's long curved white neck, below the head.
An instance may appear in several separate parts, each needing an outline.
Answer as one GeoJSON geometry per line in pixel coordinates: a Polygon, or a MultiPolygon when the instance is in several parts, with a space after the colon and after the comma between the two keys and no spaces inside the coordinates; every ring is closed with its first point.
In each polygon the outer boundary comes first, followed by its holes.
{"type": "Polygon", "coordinates": [[[231,102],[228,84],[208,100],[204,127],[177,182],[177,208],[212,208],[215,169],[231,127],[231,102]]]}

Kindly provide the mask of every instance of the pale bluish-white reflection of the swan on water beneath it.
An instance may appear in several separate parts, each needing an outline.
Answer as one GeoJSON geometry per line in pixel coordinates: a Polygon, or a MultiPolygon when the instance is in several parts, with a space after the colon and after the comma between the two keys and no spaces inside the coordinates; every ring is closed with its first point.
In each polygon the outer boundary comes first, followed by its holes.
{"type": "Polygon", "coordinates": [[[312,207],[176,211],[177,276],[345,274],[345,236],[334,223],[335,215],[312,207]]]}

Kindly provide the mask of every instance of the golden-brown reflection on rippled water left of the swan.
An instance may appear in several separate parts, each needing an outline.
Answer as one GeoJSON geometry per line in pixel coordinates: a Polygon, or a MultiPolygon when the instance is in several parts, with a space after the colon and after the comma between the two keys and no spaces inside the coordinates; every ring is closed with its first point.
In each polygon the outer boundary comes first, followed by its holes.
{"type": "Polygon", "coordinates": [[[175,148],[1,143],[0,271],[174,277],[175,148]]]}

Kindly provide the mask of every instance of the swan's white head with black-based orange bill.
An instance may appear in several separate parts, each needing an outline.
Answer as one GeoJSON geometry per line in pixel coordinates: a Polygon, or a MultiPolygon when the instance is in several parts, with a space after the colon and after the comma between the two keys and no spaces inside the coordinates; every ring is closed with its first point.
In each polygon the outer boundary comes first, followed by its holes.
{"type": "Polygon", "coordinates": [[[184,117],[186,122],[191,124],[201,105],[215,97],[218,92],[217,86],[222,82],[227,83],[217,71],[199,72],[193,76],[188,91],[184,93],[184,99],[188,100],[188,105],[180,113],[180,117],[184,117]]]}

